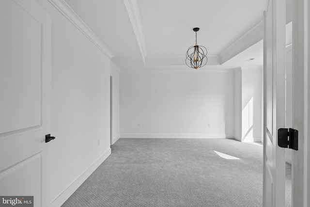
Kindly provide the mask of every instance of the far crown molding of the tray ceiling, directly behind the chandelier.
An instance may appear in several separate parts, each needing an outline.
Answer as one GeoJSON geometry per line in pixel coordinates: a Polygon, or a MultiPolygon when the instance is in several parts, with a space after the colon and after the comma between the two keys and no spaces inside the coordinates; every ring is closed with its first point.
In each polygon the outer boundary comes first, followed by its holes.
{"type": "MultiPolygon", "coordinates": [[[[219,55],[207,55],[206,65],[220,65],[219,55]]],[[[148,55],[145,58],[146,65],[186,65],[185,55],[148,55]]]]}

